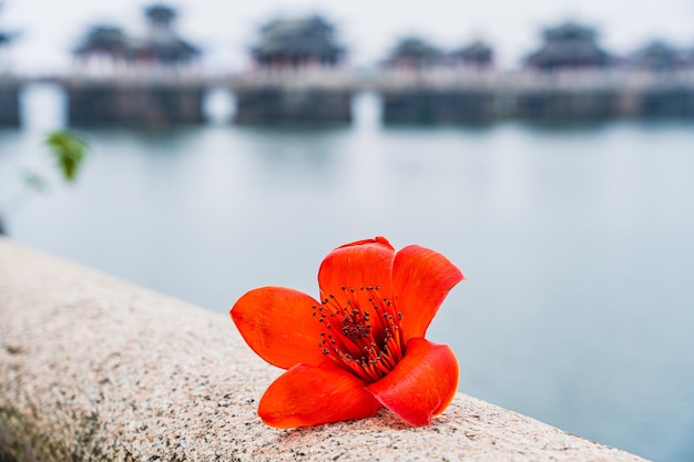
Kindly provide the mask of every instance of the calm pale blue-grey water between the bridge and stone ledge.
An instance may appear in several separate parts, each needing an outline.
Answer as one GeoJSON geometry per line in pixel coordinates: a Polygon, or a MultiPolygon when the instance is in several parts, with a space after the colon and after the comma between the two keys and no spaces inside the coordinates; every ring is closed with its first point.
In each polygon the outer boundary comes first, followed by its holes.
{"type": "MultiPolygon", "coordinates": [[[[55,89],[0,131],[0,201],[63,124],[55,89]]],[[[82,131],[90,158],[8,213],[11,236],[226,312],[245,290],[317,294],[320,259],[387,236],[468,276],[429,337],[460,390],[657,461],[694,460],[694,123],[82,131]]],[[[229,330],[233,325],[229,321],[229,330]]]]}

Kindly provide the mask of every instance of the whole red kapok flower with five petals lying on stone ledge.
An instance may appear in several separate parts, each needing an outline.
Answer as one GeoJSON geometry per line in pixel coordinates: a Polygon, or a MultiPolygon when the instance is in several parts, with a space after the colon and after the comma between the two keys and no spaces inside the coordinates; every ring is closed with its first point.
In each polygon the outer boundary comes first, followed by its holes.
{"type": "Polygon", "coordinates": [[[395,251],[384,237],[330,251],[318,270],[320,300],[262,287],[231,316],[248,346],[287,371],[261,399],[276,428],[363,419],[381,407],[412,425],[443,412],[458,387],[458,361],[425,333],[463,275],[417,245],[395,251]]]}

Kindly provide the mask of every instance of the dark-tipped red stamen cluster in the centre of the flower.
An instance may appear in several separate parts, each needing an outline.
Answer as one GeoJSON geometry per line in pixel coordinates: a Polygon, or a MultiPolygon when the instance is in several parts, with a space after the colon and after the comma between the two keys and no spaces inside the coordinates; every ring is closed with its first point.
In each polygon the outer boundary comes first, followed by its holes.
{"type": "Polygon", "coordinates": [[[329,294],[314,306],[314,316],[325,325],[318,342],[323,353],[368,383],[402,359],[402,315],[378,286],[343,287],[341,294],[329,294]]]}

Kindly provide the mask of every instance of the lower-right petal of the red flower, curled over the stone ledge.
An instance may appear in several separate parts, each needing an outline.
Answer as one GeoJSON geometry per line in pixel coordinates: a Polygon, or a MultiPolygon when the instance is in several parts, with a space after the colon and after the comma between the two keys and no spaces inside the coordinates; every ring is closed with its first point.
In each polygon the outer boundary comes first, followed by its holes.
{"type": "Polygon", "coordinates": [[[406,422],[427,425],[443,412],[458,388],[458,361],[448,345],[423,338],[407,343],[405,358],[381,380],[366,387],[406,422]]]}

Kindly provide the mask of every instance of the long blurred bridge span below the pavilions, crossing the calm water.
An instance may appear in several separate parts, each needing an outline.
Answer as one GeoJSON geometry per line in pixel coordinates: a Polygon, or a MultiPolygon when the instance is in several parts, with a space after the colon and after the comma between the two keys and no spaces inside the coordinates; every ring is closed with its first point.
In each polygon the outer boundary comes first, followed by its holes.
{"type": "Polygon", "coordinates": [[[236,123],[349,123],[351,97],[376,92],[385,123],[552,122],[618,117],[693,117],[694,69],[426,71],[358,73],[315,68],[210,75],[201,70],[136,68],[78,70],[68,75],[0,79],[0,123],[18,123],[12,96],[21,85],[65,89],[70,124],[202,123],[202,100],[213,89],[234,93],[236,123]],[[2,114],[4,113],[4,114],[2,114]]]}

